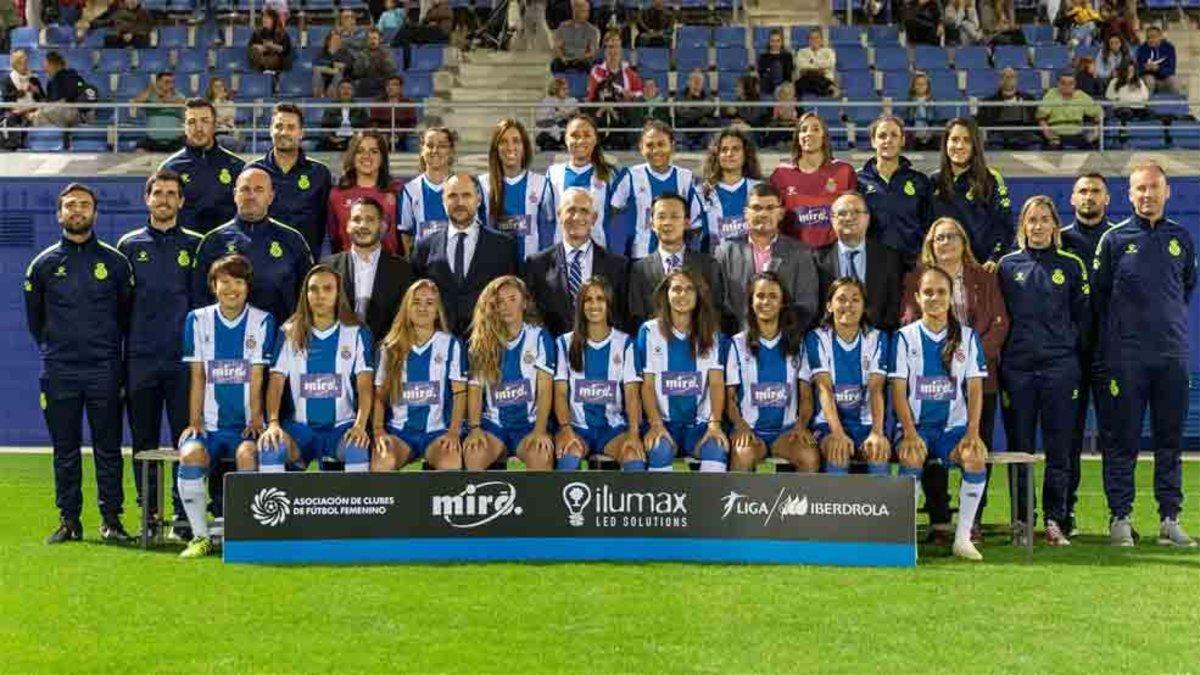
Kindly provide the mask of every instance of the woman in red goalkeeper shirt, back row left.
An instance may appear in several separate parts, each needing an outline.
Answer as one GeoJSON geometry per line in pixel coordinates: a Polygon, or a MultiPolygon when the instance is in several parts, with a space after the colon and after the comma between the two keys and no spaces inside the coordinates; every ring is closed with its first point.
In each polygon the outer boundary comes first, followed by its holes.
{"type": "MultiPolygon", "coordinates": [[[[383,207],[383,249],[400,253],[396,235],[396,193],[400,181],[391,178],[388,165],[386,138],[376,131],[360,131],[350,138],[342,154],[342,175],[329,193],[329,221],[325,227],[330,249],[336,253],[347,250],[352,241],[347,232],[350,207],[364,198],[371,198],[383,207]]],[[[406,252],[407,255],[407,252],[406,252]]]]}

